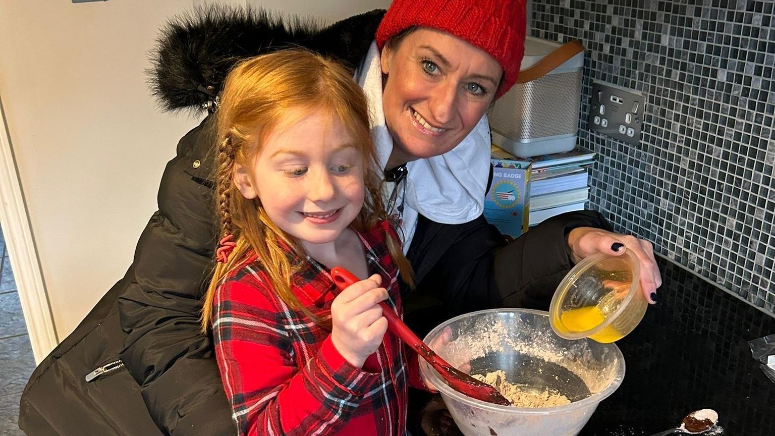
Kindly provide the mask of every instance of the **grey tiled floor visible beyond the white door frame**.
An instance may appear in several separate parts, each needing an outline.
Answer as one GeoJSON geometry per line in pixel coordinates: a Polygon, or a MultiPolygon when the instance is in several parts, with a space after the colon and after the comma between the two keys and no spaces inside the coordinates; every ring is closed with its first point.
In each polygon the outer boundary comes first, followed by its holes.
{"type": "Polygon", "coordinates": [[[0,436],[23,436],[17,425],[19,397],[35,369],[35,359],[2,232],[0,253],[0,436]]]}

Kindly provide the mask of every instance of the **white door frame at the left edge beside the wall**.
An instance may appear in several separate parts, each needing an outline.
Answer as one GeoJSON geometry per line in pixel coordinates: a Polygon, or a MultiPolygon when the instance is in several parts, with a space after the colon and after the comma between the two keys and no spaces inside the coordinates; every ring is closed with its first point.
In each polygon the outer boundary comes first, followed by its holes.
{"type": "Polygon", "coordinates": [[[36,365],[59,343],[0,99],[0,222],[36,365]]]}

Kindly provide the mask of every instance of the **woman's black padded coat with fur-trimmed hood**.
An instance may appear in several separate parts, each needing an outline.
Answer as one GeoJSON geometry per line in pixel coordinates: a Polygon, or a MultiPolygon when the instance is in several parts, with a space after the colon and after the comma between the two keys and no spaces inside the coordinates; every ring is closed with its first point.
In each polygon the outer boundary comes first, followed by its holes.
{"type": "MultiPolygon", "coordinates": [[[[222,10],[178,21],[160,41],[155,91],[167,109],[206,105],[236,59],[288,43],[355,67],[383,13],[320,30],[306,25],[288,31],[260,14],[222,10]]],[[[19,412],[19,426],[27,434],[236,432],[212,339],[199,333],[198,323],[216,243],[213,119],[206,117],[177,144],[160,184],[159,210],[140,236],[125,277],[33,372],[19,412]],[[85,380],[105,364],[114,365],[85,380]]],[[[408,322],[422,335],[446,317],[470,310],[546,308],[572,266],[567,231],[579,226],[608,224],[598,213],[567,214],[505,245],[484,217],[444,225],[420,216],[408,251],[418,283],[405,297],[408,322]]]]}

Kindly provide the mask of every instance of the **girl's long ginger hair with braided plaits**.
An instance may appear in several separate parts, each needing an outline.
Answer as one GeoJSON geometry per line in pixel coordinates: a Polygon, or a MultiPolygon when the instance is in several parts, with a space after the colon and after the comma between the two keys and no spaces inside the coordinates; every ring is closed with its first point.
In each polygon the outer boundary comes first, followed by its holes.
{"type": "MultiPolygon", "coordinates": [[[[267,216],[260,199],[246,199],[233,182],[235,164],[252,168],[272,130],[292,123],[290,109],[297,112],[328,111],[345,126],[360,144],[364,162],[366,191],[363,206],[351,227],[363,232],[377,221],[387,220],[381,191],[374,144],[370,137],[366,97],[344,67],[307,50],[281,50],[251,57],[236,64],[226,77],[217,112],[217,156],[215,157],[215,210],[220,218],[220,237],[233,235],[236,243],[226,262],[218,262],[205,294],[202,330],[212,318],[212,299],[219,283],[246,260],[257,254],[277,295],[294,310],[300,310],[315,323],[330,327],[325,314],[315,314],[302,306],[291,291],[291,275],[300,265],[288,258],[288,247],[299,258],[304,250],[267,216]]],[[[401,246],[386,232],[387,248],[398,265],[401,279],[413,286],[412,267],[401,246]]]]}

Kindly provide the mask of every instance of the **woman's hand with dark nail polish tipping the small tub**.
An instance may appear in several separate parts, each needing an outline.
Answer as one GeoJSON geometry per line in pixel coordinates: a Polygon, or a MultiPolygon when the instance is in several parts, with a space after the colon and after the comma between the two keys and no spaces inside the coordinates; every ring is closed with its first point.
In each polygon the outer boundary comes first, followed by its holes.
{"type": "Polygon", "coordinates": [[[640,260],[640,287],[649,303],[656,303],[656,288],[662,285],[662,276],[656,266],[654,248],[648,240],[594,227],[577,227],[568,234],[568,246],[574,263],[591,254],[619,256],[626,250],[632,251],[640,260]]]}

